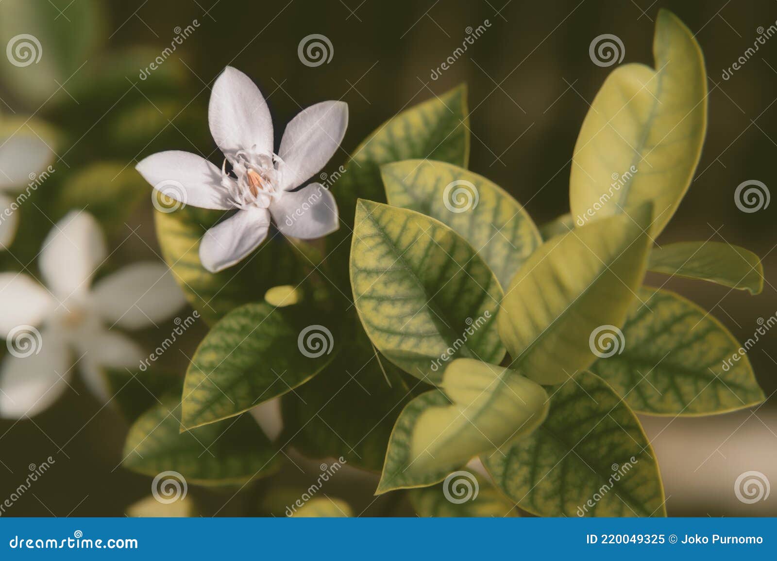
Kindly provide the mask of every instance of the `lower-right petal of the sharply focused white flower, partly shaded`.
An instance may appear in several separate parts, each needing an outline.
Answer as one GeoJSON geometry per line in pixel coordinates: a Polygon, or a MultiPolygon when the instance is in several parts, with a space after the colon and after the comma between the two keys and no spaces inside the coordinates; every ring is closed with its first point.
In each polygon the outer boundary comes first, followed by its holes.
{"type": "Polygon", "coordinates": [[[320,183],[284,192],[270,205],[270,213],[281,234],[303,240],[324,237],[340,227],[335,198],[320,183]]]}

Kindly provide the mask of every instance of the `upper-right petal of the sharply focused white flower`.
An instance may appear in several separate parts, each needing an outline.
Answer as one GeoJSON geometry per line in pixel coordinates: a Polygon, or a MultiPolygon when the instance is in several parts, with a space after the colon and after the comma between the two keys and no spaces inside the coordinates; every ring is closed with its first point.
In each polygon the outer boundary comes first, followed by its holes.
{"type": "Polygon", "coordinates": [[[284,189],[312,178],[343,141],[348,126],[346,102],[321,102],[298,113],[286,126],[278,155],[284,161],[284,189]]]}

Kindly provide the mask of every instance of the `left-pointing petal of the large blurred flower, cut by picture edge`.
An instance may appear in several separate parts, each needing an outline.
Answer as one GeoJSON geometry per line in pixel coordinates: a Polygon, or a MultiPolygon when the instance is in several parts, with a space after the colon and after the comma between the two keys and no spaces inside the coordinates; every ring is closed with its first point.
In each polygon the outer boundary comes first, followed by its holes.
{"type": "Polygon", "coordinates": [[[43,286],[28,275],[0,273],[0,337],[20,325],[40,325],[56,303],[43,286]]]}

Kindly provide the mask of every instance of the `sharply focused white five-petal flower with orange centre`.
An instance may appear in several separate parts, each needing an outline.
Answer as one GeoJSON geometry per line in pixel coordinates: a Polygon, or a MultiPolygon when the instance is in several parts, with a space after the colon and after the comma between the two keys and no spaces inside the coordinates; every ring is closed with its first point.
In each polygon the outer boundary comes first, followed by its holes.
{"type": "Polygon", "coordinates": [[[275,154],[273,121],[259,88],[246,74],[227,67],[213,85],[207,116],[226,158],[221,169],[182,151],[152,154],[137,166],[155,189],[180,203],[238,211],[204,235],[204,268],[218,272],[249,255],[267,237],[270,217],[291,237],[312,239],[337,229],[337,206],[329,190],[320,183],[293,189],[340,146],[348,125],[346,103],[321,102],[301,111],[288,123],[275,154]]]}

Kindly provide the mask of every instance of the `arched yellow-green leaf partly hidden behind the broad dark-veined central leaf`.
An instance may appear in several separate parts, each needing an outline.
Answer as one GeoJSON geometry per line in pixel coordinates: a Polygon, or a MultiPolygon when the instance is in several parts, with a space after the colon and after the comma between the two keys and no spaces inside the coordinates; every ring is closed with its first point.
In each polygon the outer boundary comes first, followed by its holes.
{"type": "Polygon", "coordinates": [[[451,227],[478,252],[502,286],[542,242],[524,207],[482,175],[441,161],[381,166],[392,206],[416,210],[451,227]]]}

